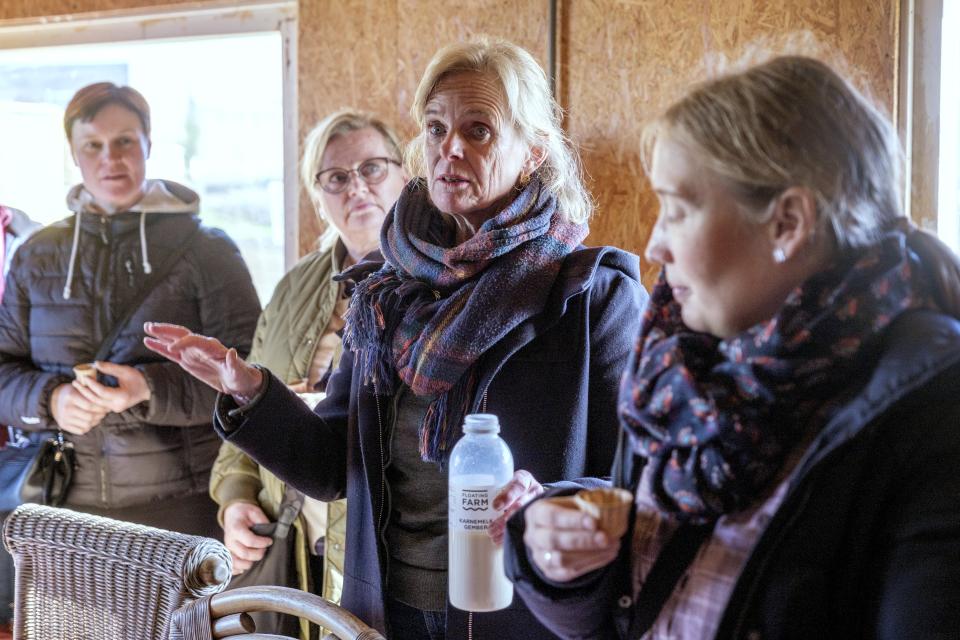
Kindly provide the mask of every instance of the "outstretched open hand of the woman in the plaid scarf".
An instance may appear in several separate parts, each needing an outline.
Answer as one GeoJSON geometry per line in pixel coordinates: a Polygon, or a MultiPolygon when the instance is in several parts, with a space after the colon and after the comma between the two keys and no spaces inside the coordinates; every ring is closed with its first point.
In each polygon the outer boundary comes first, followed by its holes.
{"type": "Polygon", "coordinates": [[[176,362],[220,393],[249,399],[260,389],[263,373],[244,362],[236,349],[227,349],[216,338],[164,322],[147,322],[143,330],[148,336],[143,344],[148,349],[176,362]]]}

